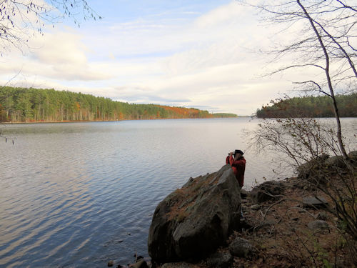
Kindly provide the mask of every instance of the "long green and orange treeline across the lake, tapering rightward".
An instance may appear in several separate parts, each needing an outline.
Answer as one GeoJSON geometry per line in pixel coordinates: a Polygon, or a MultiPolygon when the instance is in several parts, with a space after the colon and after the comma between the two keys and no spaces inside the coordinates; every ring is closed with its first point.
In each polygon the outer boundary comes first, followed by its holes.
{"type": "Polygon", "coordinates": [[[0,121],[116,121],[236,117],[156,104],[129,104],[71,91],[0,86],[0,121]]]}

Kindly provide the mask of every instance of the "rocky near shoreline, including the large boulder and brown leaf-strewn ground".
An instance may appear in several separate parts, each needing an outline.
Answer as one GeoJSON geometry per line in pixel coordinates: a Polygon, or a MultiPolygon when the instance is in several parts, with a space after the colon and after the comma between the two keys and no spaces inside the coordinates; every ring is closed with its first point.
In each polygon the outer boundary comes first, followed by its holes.
{"type": "MultiPolygon", "coordinates": [[[[350,155],[356,171],[357,152],[350,155]]],[[[321,161],[327,160],[341,162],[321,161]]],[[[151,224],[152,259],[137,257],[129,267],[353,267],[339,219],[326,209],[333,200],[308,180],[268,181],[247,192],[232,179],[227,165],[169,194],[151,224]]]]}

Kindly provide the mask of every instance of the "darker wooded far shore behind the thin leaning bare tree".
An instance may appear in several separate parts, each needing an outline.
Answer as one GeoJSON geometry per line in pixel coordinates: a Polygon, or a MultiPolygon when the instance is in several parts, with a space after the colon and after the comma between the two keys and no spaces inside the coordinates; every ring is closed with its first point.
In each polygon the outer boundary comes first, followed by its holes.
{"type": "MultiPolygon", "coordinates": [[[[333,117],[332,99],[329,96],[304,96],[275,101],[256,111],[258,118],[283,117],[333,117]]],[[[336,96],[341,117],[357,116],[357,93],[336,96]]]]}

